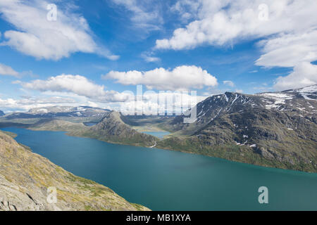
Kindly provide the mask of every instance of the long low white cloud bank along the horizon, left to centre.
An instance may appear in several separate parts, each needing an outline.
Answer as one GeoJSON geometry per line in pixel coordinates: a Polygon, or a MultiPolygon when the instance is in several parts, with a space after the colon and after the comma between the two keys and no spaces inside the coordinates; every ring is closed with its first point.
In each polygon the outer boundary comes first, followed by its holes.
{"type": "Polygon", "coordinates": [[[1,110],[12,112],[53,105],[89,105],[122,110],[132,115],[136,112],[143,112],[147,115],[156,115],[158,112],[180,114],[207,97],[196,96],[195,92],[189,91],[145,91],[142,101],[140,101],[132,91],[124,91],[123,93],[114,91],[116,96],[109,95],[108,91],[104,91],[103,86],[94,84],[78,75],[60,75],[46,80],[35,80],[28,83],[15,82],[15,84],[20,84],[27,90],[41,91],[41,95],[30,97],[34,94],[27,92],[27,96],[22,96],[19,99],[0,98],[1,110]],[[85,87],[85,89],[81,87],[85,87]]]}

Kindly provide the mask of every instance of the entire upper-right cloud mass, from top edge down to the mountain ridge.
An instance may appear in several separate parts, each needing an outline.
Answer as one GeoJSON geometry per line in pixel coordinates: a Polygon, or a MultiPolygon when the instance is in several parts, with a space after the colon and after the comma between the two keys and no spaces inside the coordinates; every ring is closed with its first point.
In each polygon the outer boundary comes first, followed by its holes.
{"type": "Polygon", "coordinates": [[[191,22],[176,29],[172,37],[156,40],[156,49],[231,46],[242,40],[262,39],[257,46],[263,54],[256,65],[294,68],[290,75],[275,81],[276,89],[316,84],[311,63],[317,60],[317,1],[199,0],[197,4],[187,0],[175,4],[175,11],[187,13],[191,22]]]}

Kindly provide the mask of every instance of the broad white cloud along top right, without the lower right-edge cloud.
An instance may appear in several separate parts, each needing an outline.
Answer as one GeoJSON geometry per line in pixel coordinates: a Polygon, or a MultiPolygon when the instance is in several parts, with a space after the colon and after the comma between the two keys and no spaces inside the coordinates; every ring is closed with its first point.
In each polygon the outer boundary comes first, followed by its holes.
{"type": "Polygon", "coordinates": [[[222,46],[240,39],[300,32],[317,23],[314,0],[199,2],[197,20],[175,30],[170,39],[157,40],[157,49],[192,49],[202,44],[222,46]],[[259,20],[260,4],[267,4],[268,20],[259,20]]]}

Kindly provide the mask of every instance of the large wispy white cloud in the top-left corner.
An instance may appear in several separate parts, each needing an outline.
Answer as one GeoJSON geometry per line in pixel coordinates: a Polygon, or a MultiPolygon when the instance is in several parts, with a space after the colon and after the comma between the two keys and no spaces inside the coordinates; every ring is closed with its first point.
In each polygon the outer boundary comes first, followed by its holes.
{"type": "Polygon", "coordinates": [[[103,46],[97,46],[85,18],[71,13],[70,8],[63,11],[58,7],[57,20],[47,20],[48,4],[39,0],[0,1],[1,17],[16,28],[4,32],[6,41],[1,46],[11,46],[38,59],[58,60],[75,52],[97,53],[111,60],[118,58],[103,46]]]}

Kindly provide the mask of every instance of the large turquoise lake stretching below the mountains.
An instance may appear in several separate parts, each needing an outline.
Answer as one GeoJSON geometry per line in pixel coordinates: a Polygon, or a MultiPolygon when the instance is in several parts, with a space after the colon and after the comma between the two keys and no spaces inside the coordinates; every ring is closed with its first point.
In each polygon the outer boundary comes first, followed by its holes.
{"type": "Polygon", "coordinates": [[[317,174],[203,155],[6,128],[16,141],[77,176],[151,210],[317,210],[317,174]],[[258,189],[268,187],[268,204],[258,189]]]}

